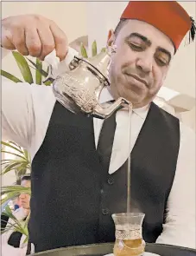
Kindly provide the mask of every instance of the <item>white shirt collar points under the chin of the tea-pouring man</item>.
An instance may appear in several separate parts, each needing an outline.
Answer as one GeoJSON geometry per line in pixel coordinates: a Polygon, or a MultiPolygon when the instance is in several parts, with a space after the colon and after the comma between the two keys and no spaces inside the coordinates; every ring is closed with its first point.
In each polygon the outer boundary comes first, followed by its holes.
{"type": "MultiPolygon", "coordinates": [[[[107,88],[104,88],[101,92],[99,103],[110,102],[112,100],[113,100],[113,97],[110,94],[109,90],[107,88]]],[[[149,112],[149,107],[150,107],[150,104],[142,108],[134,108],[133,112],[136,113],[136,115],[140,116],[142,119],[145,119],[149,112]]]]}

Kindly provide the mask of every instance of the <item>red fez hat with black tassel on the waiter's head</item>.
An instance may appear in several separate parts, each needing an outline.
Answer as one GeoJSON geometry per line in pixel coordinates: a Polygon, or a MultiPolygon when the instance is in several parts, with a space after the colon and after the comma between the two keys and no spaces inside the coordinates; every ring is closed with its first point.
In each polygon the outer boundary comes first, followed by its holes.
{"type": "Polygon", "coordinates": [[[136,19],[153,25],[172,40],[175,49],[189,30],[192,39],[195,34],[193,18],[175,1],[133,1],[128,3],[121,19],[136,19]]]}

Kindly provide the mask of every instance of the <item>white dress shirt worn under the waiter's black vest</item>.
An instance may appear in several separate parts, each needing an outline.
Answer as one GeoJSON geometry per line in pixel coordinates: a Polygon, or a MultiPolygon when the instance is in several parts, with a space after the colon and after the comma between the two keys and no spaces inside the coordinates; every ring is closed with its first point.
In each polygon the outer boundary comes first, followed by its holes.
{"type": "MultiPolygon", "coordinates": [[[[60,72],[76,52],[69,49],[66,60],[60,62],[60,72]]],[[[8,70],[9,71],[9,70],[8,70]]],[[[102,91],[100,102],[111,100],[108,90],[102,91]]],[[[51,87],[29,85],[26,82],[2,83],[3,139],[16,141],[27,148],[33,160],[47,133],[47,126],[55,103],[51,87]]],[[[129,150],[129,113],[117,112],[117,128],[111,154],[109,173],[112,174],[127,160],[148,114],[149,106],[137,108],[131,115],[131,147],[129,150]],[[122,147],[123,145],[123,147],[122,147]]],[[[94,119],[95,142],[103,120],[94,119]]],[[[157,170],[158,171],[158,170],[157,170]]],[[[139,189],[139,188],[138,188],[139,189]]],[[[195,194],[195,134],[180,122],[180,152],[174,184],[168,197],[167,222],[156,242],[196,248],[195,194]]]]}

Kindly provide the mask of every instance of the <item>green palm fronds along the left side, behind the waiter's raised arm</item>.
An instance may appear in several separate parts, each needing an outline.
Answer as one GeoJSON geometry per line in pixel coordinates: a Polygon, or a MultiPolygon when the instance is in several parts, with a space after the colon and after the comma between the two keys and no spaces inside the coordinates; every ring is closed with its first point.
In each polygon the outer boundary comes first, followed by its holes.
{"type": "MultiPolygon", "coordinates": [[[[43,79],[47,77],[48,69],[42,69],[42,62],[39,59],[32,61],[28,57],[22,56],[17,51],[12,51],[12,55],[15,58],[17,67],[20,69],[23,81],[10,74],[9,72],[1,69],[1,75],[11,80],[12,82],[28,82],[35,84],[50,85],[51,82],[43,82],[43,79]],[[33,71],[35,71],[35,79],[33,78],[33,71]]],[[[1,175],[7,174],[10,171],[14,171],[16,174],[16,184],[19,184],[22,175],[30,171],[30,155],[25,148],[16,144],[13,141],[2,141],[2,154],[7,154],[6,159],[1,161],[2,171],[1,175]],[[14,152],[13,152],[14,151],[14,152]]],[[[11,223],[8,223],[3,233],[9,231],[12,228],[14,231],[18,231],[26,236],[26,242],[28,240],[28,218],[25,221],[16,220],[16,217],[11,212],[9,207],[10,200],[13,200],[20,194],[30,194],[29,187],[22,187],[19,185],[6,186],[1,189],[1,213],[7,215],[11,223]]]]}

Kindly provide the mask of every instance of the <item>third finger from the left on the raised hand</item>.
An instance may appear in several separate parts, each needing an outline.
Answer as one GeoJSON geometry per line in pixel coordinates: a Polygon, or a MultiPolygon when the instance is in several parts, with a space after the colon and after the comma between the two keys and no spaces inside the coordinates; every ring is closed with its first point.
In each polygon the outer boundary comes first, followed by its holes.
{"type": "Polygon", "coordinates": [[[39,26],[37,31],[41,40],[41,55],[39,56],[39,58],[42,61],[44,60],[45,56],[51,53],[55,48],[54,36],[52,35],[49,26],[39,26]]]}

